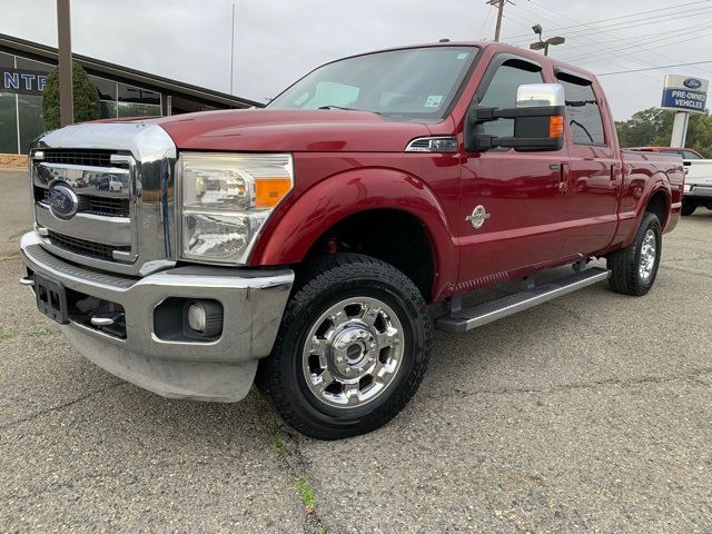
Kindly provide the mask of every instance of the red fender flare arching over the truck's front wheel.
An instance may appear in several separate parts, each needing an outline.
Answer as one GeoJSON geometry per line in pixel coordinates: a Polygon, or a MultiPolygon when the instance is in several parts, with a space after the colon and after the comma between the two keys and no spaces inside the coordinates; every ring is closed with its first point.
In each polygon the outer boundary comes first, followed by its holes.
{"type": "Polygon", "coordinates": [[[352,215],[375,209],[404,211],[423,224],[435,260],[433,298],[446,296],[443,290],[457,279],[459,251],[445,210],[425,182],[392,168],[347,170],[294,196],[267,221],[249,264],[298,264],[334,225],[352,215]]]}

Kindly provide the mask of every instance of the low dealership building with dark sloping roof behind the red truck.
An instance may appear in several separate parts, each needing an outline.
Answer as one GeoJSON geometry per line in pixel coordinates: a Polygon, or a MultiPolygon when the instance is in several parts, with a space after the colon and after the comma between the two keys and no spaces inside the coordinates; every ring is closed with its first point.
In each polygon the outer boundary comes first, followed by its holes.
{"type": "MultiPolygon", "coordinates": [[[[97,87],[102,118],[240,109],[259,102],[72,55],[97,87]]],[[[0,33],[0,154],[27,154],[42,134],[42,89],[57,49],[0,33]]]]}

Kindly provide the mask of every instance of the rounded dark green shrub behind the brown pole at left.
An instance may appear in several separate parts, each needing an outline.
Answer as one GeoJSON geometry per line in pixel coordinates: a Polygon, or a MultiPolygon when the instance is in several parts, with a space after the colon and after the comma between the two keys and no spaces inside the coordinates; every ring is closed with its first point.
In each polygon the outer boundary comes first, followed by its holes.
{"type": "MultiPolygon", "coordinates": [[[[75,93],[75,122],[100,118],[99,91],[89,79],[87,71],[72,61],[71,77],[75,93]]],[[[42,116],[46,129],[59,128],[59,69],[52,70],[47,78],[47,85],[42,91],[42,116]]]]}

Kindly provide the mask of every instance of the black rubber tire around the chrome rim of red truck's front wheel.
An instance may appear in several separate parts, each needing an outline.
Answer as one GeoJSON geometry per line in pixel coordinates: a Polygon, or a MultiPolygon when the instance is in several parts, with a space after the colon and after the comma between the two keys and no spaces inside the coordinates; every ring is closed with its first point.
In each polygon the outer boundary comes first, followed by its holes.
{"type": "Polygon", "coordinates": [[[403,409],[427,369],[433,333],[421,291],[392,265],[357,254],[318,258],[297,279],[271,355],[260,362],[258,387],[285,422],[317,439],[339,439],[380,427],[403,409]],[[375,398],[360,406],[334,407],[309,389],[303,350],[308,333],[330,306],[357,297],[378,299],[395,313],[403,332],[400,363],[375,398]]]}

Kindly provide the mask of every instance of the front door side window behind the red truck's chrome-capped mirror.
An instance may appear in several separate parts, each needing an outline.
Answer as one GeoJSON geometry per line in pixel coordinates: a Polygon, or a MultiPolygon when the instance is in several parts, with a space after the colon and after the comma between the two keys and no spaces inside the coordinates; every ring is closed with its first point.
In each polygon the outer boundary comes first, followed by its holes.
{"type": "MultiPolygon", "coordinates": [[[[541,69],[524,61],[507,61],[494,73],[490,87],[479,101],[482,108],[514,108],[516,90],[525,83],[543,83],[541,69]]],[[[497,137],[514,136],[514,120],[500,119],[482,125],[483,134],[497,137]]]]}

